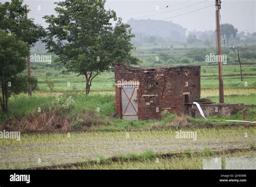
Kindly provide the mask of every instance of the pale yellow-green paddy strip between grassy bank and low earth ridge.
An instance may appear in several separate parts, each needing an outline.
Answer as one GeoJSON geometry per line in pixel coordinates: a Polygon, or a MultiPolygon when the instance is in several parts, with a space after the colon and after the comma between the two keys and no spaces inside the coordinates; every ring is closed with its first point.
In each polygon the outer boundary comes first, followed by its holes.
{"type": "MultiPolygon", "coordinates": [[[[85,162],[88,159],[105,162],[116,155],[128,155],[130,160],[139,156],[140,161],[153,153],[190,153],[231,148],[249,148],[256,145],[253,127],[184,129],[197,131],[197,140],[177,139],[177,130],[151,130],[126,132],[37,133],[21,135],[21,140],[0,140],[0,168],[14,169],[85,162]],[[244,133],[248,138],[244,138],[244,133]],[[129,138],[127,138],[129,133],[129,138]],[[150,151],[149,151],[150,150],[150,151]],[[41,163],[37,163],[38,158],[41,163]]],[[[124,156],[123,156],[124,157],[124,156]]],[[[134,166],[135,167],[135,166],[134,166]]],[[[181,167],[181,166],[180,166],[181,167]]],[[[132,167],[131,167],[132,168],[132,167]]],[[[185,168],[184,168],[185,169],[185,168]]]]}

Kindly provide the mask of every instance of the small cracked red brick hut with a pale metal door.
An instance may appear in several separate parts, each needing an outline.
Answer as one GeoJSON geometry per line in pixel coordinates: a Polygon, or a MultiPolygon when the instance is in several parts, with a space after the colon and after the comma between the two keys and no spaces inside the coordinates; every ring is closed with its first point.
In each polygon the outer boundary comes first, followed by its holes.
{"type": "Polygon", "coordinates": [[[200,66],[114,67],[118,118],[160,119],[160,113],[185,113],[185,103],[200,98],[200,66]]]}

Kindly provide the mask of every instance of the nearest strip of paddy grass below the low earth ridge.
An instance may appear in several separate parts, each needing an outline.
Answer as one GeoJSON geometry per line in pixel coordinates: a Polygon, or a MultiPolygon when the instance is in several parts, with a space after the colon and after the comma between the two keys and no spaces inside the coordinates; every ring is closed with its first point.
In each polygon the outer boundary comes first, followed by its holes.
{"type": "MultiPolygon", "coordinates": [[[[76,166],[70,166],[68,168],[59,166],[57,169],[203,169],[203,160],[211,159],[215,157],[225,158],[237,158],[241,156],[247,156],[254,158],[256,155],[255,150],[237,151],[234,153],[214,153],[210,155],[205,151],[199,153],[190,154],[173,154],[173,156],[163,156],[157,154],[150,154],[150,156],[141,155],[133,156],[132,159],[129,155],[122,157],[114,157],[105,161],[104,163],[92,164],[90,162],[76,164],[76,166]],[[142,159],[143,158],[143,159],[142,159]]],[[[250,164],[250,163],[248,163],[250,164]]],[[[223,168],[225,168],[225,164],[223,168]]]]}

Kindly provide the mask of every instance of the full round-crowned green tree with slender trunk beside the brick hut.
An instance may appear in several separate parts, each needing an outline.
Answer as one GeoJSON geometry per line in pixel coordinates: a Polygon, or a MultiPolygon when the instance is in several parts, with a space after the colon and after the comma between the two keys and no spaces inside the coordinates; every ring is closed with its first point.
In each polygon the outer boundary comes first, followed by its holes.
{"type": "Polygon", "coordinates": [[[84,75],[86,94],[93,78],[109,71],[115,63],[137,64],[132,56],[129,25],[123,24],[113,10],[105,10],[105,1],[57,2],[57,16],[45,16],[48,37],[46,49],[58,55],[57,62],[67,71],[84,75]],[[111,21],[117,21],[112,26],[111,21]]]}

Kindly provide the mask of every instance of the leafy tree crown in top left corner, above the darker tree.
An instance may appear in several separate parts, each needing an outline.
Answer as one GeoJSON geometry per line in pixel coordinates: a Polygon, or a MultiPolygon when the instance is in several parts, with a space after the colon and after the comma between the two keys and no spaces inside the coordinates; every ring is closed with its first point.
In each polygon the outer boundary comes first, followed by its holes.
{"type": "MultiPolygon", "coordinates": [[[[33,19],[26,17],[30,10],[22,3],[23,0],[0,3],[0,29],[6,33],[14,34],[18,40],[22,40],[29,47],[32,47],[35,42],[44,37],[45,31],[42,26],[35,24],[33,19]]],[[[28,66],[28,70],[30,71],[30,66],[28,66]]],[[[28,84],[31,85],[32,83],[28,82],[28,84]]]]}

